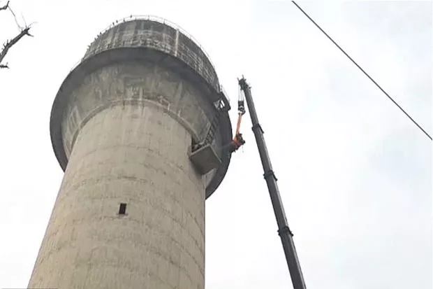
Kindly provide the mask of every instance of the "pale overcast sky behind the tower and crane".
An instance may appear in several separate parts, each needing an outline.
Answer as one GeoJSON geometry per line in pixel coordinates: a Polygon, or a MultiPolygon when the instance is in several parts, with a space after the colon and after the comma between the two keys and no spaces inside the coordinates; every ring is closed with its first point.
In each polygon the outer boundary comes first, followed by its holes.
{"type": "MultiPolygon", "coordinates": [[[[432,134],[431,1],[299,3],[432,134]]],[[[198,39],[233,104],[237,77],[247,78],[307,288],[432,288],[432,142],[293,3],[10,5],[37,23],[0,71],[0,288],[27,286],[63,176],[50,143],[54,96],[94,36],[131,14],[198,39]]],[[[0,41],[16,33],[0,11],[0,41]]],[[[291,288],[245,119],[247,144],[206,202],[206,289],[291,288]]]]}

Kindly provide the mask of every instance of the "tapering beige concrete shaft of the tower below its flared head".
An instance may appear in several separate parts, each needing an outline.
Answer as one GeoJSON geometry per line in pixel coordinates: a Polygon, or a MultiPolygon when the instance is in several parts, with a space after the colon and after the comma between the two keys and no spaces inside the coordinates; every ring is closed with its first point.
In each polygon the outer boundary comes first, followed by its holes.
{"type": "Polygon", "coordinates": [[[91,118],[29,287],[203,288],[205,186],[185,154],[190,142],[157,108],[113,106],[91,118]]]}

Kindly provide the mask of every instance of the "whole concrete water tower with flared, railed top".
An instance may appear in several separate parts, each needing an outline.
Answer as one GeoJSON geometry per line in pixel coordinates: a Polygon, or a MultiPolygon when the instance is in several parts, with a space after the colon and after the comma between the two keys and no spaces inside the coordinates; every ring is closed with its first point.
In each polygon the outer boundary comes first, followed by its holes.
{"type": "Polygon", "coordinates": [[[175,25],[129,17],[99,34],[52,106],[65,174],[29,288],[203,289],[205,199],[230,162],[229,108],[210,59],[175,25]],[[212,120],[211,145],[191,152],[212,120]]]}

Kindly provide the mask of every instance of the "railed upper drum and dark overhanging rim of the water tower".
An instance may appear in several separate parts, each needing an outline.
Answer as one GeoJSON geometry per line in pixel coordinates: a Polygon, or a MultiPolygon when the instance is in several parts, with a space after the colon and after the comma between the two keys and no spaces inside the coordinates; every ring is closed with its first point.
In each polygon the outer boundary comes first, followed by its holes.
{"type": "MultiPolygon", "coordinates": [[[[168,20],[155,16],[130,16],[117,20],[96,36],[81,61],[68,73],[54,99],[50,134],[54,153],[63,170],[66,169],[71,150],[71,146],[64,141],[64,115],[66,112],[71,113],[69,103],[74,90],[80,87],[86,76],[104,66],[142,61],[158,63],[170,71],[179,73],[182,78],[193,83],[212,107],[215,102],[222,99],[230,108],[210,57],[186,31],[168,20]]],[[[90,117],[91,115],[83,116],[82,121],[76,125],[76,130],[78,131],[90,117]]],[[[209,118],[212,118],[212,115],[209,118]]],[[[227,111],[219,116],[218,134],[220,145],[229,143],[232,139],[232,127],[227,111]]],[[[193,139],[201,137],[193,132],[191,135],[193,139]]],[[[73,141],[75,139],[71,143],[73,141]]],[[[230,153],[226,148],[221,146],[216,150],[221,164],[205,175],[206,197],[210,197],[217,189],[230,163],[230,153]]]]}

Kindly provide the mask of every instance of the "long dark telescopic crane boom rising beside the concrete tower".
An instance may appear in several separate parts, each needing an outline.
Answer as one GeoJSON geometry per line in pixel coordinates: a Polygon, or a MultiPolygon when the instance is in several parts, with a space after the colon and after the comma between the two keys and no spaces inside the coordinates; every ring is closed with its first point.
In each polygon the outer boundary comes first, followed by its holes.
{"type": "Polygon", "coordinates": [[[293,234],[288,227],[286,213],[284,212],[284,206],[279,195],[277,177],[275,176],[274,171],[272,171],[272,164],[270,162],[269,154],[267,153],[265,138],[263,137],[263,129],[258,123],[256,108],[251,97],[251,90],[244,77],[239,80],[239,85],[241,90],[244,92],[245,100],[247,101],[249,109],[249,115],[251,116],[251,123],[253,125],[252,130],[256,138],[258,153],[260,154],[260,160],[265,173],[263,176],[265,177],[272,206],[274,207],[275,218],[277,218],[278,234],[279,237],[281,237],[281,243],[283,244],[284,255],[286,255],[288,271],[291,275],[293,288],[306,289],[298,255],[296,254],[295,243],[293,242],[293,234]]]}

